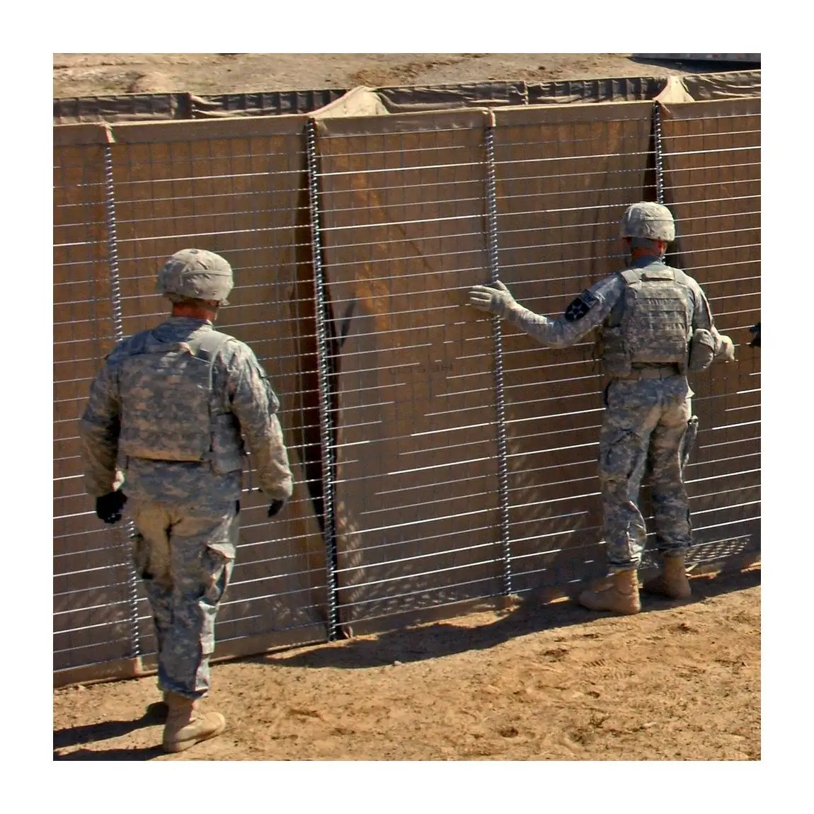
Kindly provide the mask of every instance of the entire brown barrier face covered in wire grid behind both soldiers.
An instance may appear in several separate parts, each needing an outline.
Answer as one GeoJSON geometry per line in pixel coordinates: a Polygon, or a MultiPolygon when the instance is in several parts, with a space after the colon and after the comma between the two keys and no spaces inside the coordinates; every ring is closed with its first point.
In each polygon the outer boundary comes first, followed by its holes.
{"type": "MultiPolygon", "coordinates": [[[[219,641],[313,641],[604,571],[593,337],[543,348],[466,292],[499,277],[532,310],[562,313],[624,265],[619,215],[657,194],[649,177],[676,214],[670,260],[739,345],[737,365],[693,384],[694,558],[759,542],[759,352],[743,347],[759,319],[759,108],[662,113],[654,154],[649,103],[596,120],[573,107],[498,110],[493,128],[455,112],[108,148],[121,330],[167,312],[153,293],[166,256],[221,252],[237,287],[219,326],[254,348],[282,400],[295,498],[269,523],[265,499],[244,495],[219,641]]],[[[134,643],[126,569],[83,495],[75,430],[116,335],[103,148],[60,148],[56,164],[59,668],[134,643]]],[[[149,653],[139,596],[135,645],[149,653]]]]}

